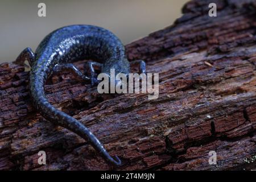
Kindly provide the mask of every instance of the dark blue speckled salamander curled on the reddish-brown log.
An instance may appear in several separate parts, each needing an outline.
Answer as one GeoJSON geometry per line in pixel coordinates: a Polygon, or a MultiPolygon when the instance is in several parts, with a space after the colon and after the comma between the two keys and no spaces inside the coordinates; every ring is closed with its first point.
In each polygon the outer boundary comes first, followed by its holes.
{"type": "MultiPolygon", "coordinates": [[[[27,60],[31,66],[30,94],[34,106],[48,121],[63,126],[80,137],[88,139],[92,146],[104,156],[107,162],[115,166],[121,165],[121,160],[115,156],[114,160],[105,150],[100,141],[82,123],[63,111],[55,109],[44,94],[44,84],[50,76],[63,70],[68,70],[81,81],[90,81],[97,85],[97,75],[94,67],[100,67],[101,73],[110,76],[110,69],[115,69],[115,75],[130,73],[130,63],[125,55],[125,47],[112,32],[90,25],[73,25],[59,28],[42,40],[35,53],[31,48],[24,49],[15,63],[24,65],[27,60]],[[86,72],[83,74],[72,63],[77,60],[93,59],[97,62],[87,62],[86,72]]],[[[144,61],[133,62],[139,64],[140,72],[145,73],[144,61]]],[[[133,64],[132,63],[132,64],[133,64]]],[[[117,82],[120,80],[116,80],[117,82]]]]}

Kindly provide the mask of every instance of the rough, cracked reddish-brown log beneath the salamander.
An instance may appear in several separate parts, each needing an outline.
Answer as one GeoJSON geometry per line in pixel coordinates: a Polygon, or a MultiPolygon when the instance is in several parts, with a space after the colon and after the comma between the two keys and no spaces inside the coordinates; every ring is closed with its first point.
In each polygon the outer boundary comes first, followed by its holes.
{"type": "MultiPolygon", "coordinates": [[[[256,169],[255,10],[255,1],[191,1],[174,25],[127,45],[130,60],[159,73],[158,100],[97,94],[68,74],[49,81],[47,97],[122,159],[118,169],[256,169]],[[212,150],[217,165],[208,163],[212,150]]],[[[27,84],[23,67],[0,65],[0,169],[112,169],[85,140],[43,119],[27,84]]]]}

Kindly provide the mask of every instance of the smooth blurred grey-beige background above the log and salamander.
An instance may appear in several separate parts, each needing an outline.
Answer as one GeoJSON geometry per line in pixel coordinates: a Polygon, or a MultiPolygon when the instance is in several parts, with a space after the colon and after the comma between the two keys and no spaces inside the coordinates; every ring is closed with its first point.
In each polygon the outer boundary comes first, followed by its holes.
{"type": "Polygon", "coordinates": [[[49,32],[69,24],[109,29],[124,44],[170,26],[188,0],[0,1],[0,63],[26,47],[34,51],[49,32]],[[38,4],[46,3],[46,17],[38,4]]]}

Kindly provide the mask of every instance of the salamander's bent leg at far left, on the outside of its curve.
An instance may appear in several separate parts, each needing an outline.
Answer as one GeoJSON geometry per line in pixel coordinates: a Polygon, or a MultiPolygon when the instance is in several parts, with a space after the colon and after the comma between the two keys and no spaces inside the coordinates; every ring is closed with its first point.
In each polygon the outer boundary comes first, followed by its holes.
{"type": "Polygon", "coordinates": [[[30,67],[32,66],[33,61],[35,61],[35,53],[32,51],[30,47],[24,49],[16,58],[14,63],[28,67],[28,65],[24,64],[26,60],[28,61],[28,64],[30,64],[30,67]]]}

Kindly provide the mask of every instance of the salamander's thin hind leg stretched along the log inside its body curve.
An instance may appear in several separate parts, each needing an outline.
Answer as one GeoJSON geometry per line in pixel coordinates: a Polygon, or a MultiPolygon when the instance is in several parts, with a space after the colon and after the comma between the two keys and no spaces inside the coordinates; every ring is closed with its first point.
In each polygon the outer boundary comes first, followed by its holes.
{"type": "Polygon", "coordinates": [[[89,77],[85,76],[75,65],[71,63],[55,65],[55,67],[53,67],[53,71],[51,75],[60,73],[62,71],[71,72],[75,76],[75,78],[77,78],[77,80],[82,80],[82,81],[90,80],[89,77]]]}

